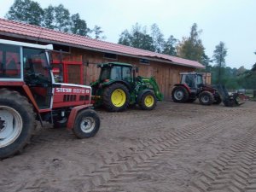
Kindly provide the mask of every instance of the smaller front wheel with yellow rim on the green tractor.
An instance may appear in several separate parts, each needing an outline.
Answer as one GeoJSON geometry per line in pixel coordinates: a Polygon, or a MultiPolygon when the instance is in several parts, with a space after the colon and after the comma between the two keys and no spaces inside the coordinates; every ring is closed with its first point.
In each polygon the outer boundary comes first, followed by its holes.
{"type": "Polygon", "coordinates": [[[155,108],[156,102],[157,100],[154,93],[148,91],[143,94],[138,104],[143,110],[152,110],[155,108]]]}

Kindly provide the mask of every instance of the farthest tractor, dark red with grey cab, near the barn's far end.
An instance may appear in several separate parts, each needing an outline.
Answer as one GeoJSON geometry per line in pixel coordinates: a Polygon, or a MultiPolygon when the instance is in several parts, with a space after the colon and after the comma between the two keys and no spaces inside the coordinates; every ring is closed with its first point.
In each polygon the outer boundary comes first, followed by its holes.
{"type": "Polygon", "coordinates": [[[202,105],[222,102],[218,90],[204,84],[202,73],[180,73],[181,82],[172,90],[173,102],[195,102],[198,98],[202,105]]]}

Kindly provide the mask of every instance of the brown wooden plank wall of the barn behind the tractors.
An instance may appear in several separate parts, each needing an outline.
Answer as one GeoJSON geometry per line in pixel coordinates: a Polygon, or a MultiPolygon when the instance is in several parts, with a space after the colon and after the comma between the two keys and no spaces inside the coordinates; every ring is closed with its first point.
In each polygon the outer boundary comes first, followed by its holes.
{"type": "MultiPolygon", "coordinates": [[[[163,63],[160,61],[150,61],[149,64],[141,64],[138,58],[121,55],[118,55],[117,60],[111,60],[104,58],[103,53],[101,52],[84,49],[72,49],[71,56],[68,58],[81,58],[81,55],[83,61],[84,84],[90,84],[91,82],[98,79],[100,68],[97,68],[96,65],[99,63],[108,61],[130,63],[139,67],[138,75],[144,77],[155,77],[157,83],[160,86],[160,91],[164,94],[166,101],[171,99],[173,85],[177,84],[180,80],[179,73],[192,72],[195,70],[193,67],[182,67],[163,63]],[[88,61],[89,65],[87,66],[88,61]]],[[[79,72],[73,75],[79,75],[79,72]]]]}

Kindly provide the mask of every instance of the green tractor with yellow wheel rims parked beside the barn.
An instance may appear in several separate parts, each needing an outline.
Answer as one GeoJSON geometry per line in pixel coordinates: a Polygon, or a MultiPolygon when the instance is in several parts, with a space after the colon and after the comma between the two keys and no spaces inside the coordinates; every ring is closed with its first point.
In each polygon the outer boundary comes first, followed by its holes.
{"type": "Polygon", "coordinates": [[[108,62],[97,67],[101,67],[100,77],[90,84],[94,106],[119,112],[138,104],[143,110],[152,110],[157,100],[163,100],[154,77],[136,77],[137,68],[131,64],[108,62]]]}

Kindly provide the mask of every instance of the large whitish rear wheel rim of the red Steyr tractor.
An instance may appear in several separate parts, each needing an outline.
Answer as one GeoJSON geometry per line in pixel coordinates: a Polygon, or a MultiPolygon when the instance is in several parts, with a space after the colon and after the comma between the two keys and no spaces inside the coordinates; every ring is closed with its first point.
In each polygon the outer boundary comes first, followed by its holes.
{"type": "Polygon", "coordinates": [[[14,108],[0,106],[0,148],[14,143],[22,131],[22,118],[14,108]]]}

